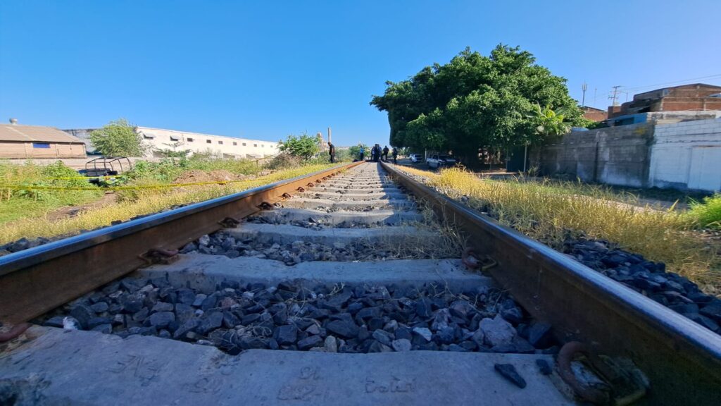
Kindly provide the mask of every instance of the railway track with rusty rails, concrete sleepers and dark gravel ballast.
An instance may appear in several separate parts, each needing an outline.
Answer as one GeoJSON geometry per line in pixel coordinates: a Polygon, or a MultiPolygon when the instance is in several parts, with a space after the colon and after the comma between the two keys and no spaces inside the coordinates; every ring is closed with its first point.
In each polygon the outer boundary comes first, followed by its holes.
{"type": "Polygon", "coordinates": [[[0,320],[35,324],[0,344],[0,403],[719,404],[716,334],[392,165],[342,169],[1,257],[0,320]]]}

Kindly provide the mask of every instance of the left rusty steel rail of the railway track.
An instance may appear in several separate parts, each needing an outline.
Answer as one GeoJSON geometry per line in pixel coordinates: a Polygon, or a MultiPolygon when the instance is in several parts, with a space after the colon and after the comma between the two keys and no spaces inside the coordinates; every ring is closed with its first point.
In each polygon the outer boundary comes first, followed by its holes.
{"type": "Polygon", "coordinates": [[[339,165],[236,194],[53,241],[0,256],[0,321],[40,316],[148,263],[149,253],[172,254],[190,241],[224,228],[360,163],[339,165]]]}

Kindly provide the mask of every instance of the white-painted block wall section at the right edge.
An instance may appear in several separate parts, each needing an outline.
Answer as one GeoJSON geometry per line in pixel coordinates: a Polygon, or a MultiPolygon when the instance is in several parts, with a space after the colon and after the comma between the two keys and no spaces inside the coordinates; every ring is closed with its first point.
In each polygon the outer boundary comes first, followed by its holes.
{"type": "Polygon", "coordinates": [[[654,135],[650,186],[721,190],[721,118],[659,124],[654,135]]]}

